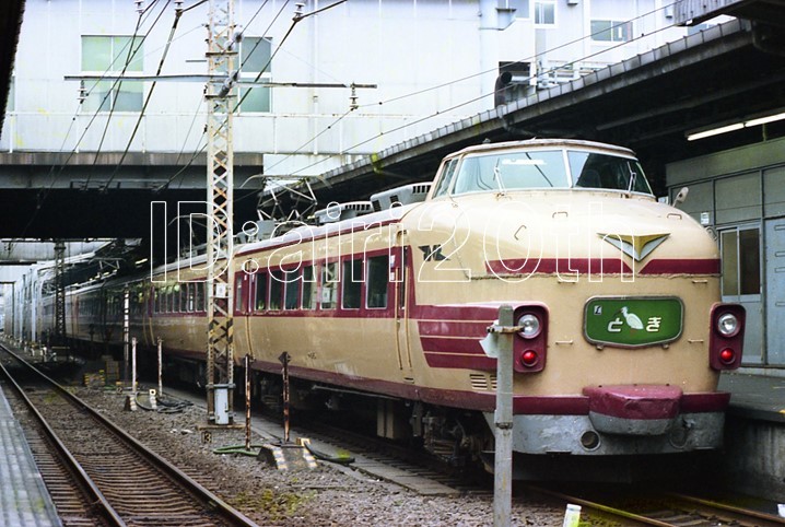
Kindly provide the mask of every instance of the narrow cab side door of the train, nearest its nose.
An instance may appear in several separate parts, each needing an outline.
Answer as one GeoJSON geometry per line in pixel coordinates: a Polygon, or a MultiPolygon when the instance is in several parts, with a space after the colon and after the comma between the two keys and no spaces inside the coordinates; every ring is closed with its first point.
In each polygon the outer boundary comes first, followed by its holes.
{"type": "Polygon", "coordinates": [[[413,300],[409,295],[409,282],[412,279],[409,273],[410,251],[406,244],[406,232],[399,231],[396,234],[396,244],[390,255],[390,271],[394,274],[395,288],[395,319],[397,327],[396,346],[398,351],[398,365],[406,378],[413,380],[411,365],[411,347],[409,342],[409,303],[413,300]]]}

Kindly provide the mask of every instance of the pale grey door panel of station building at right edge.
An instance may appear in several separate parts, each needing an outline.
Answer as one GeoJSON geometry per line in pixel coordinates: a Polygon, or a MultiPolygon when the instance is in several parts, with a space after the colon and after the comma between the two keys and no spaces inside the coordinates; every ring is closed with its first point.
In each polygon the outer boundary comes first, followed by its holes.
{"type": "Polygon", "coordinates": [[[785,366],[785,219],[766,221],[766,352],[770,365],[785,366]]]}

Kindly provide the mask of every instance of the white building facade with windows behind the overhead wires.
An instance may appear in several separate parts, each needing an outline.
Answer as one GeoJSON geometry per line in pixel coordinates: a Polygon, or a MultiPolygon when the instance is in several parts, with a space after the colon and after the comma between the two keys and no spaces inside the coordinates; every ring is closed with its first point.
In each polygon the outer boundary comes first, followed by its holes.
{"type": "MultiPolygon", "coordinates": [[[[295,23],[294,2],[234,1],[239,80],[257,82],[234,89],[234,150],[263,155],[271,176],[321,174],[488,110],[502,71],[517,97],[687,33],[666,0],[304,3],[321,11],[295,23]]],[[[207,21],[208,2],[27,0],[0,155],[185,163],[207,143],[207,21]]]]}

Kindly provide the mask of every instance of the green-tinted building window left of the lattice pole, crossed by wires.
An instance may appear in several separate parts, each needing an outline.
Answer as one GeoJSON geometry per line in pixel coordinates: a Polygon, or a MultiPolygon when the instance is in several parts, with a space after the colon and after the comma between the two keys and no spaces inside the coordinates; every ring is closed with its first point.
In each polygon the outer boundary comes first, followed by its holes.
{"type": "MultiPolygon", "coordinates": [[[[82,73],[119,74],[143,70],[142,37],[83,36],[82,73]]],[[[89,112],[140,112],[141,81],[86,81],[87,97],[82,106],[89,112]]]]}

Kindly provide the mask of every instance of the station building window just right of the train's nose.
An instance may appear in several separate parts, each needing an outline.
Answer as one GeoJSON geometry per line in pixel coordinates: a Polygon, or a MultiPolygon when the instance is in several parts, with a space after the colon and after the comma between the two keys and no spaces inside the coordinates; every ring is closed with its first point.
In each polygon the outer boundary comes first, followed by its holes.
{"type": "Polygon", "coordinates": [[[736,227],[723,231],[723,296],[761,294],[760,229],[736,227]]]}

